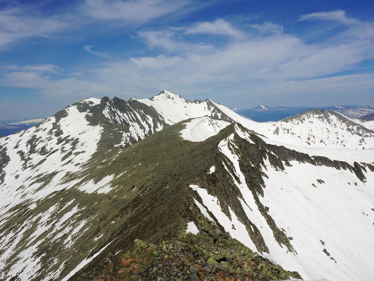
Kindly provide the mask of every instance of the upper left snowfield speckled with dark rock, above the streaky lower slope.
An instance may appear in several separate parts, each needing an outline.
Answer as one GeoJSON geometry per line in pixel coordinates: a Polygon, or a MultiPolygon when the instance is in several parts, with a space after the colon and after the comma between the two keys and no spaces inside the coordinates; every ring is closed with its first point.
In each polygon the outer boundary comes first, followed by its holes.
{"type": "Polygon", "coordinates": [[[86,163],[96,151],[96,143],[102,128],[89,126],[85,119],[86,113],[79,112],[76,106],[67,108],[66,113],[67,116],[59,120],[58,126],[55,123],[56,118],[50,117],[39,127],[0,140],[1,147],[6,148],[9,157],[9,162],[3,169],[5,176],[0,185],[3,200],[1,212],[19,203],[20,198],[22,201],[32,200],[52,192],[52,190],[32,192],[37,190],[39,183],[31,183],[18,190],[18,187],[25,182],[32,182],[42,175],[57,173],[50,184],[57,185],[67,172],[79,169],[76,164],[86,163]],[[65,141],[59,142],[55,134],[65,141]],[[75,155],[68,155],[73,149],[75,155]],[[66,155],[68,157],[65,157],[66,155]]]}

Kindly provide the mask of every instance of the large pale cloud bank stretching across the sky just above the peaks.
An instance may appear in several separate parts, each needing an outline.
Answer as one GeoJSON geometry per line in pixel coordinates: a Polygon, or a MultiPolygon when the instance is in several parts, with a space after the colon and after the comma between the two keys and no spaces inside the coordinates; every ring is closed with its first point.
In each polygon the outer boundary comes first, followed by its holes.
{"type": "Polygon", "coordinates": [[[159,52],[153,50],[155,55],[107,61],[86,71],[80,69],[79,75],[65,73],[62,77],[51,74],[52,66],[7,69],[0,85],[77,99],[150,97],[166,88],[190,99],[210,97],[229,106],[274,105],[275,101],[297,105],[296,101],[303,100],[310,105],[319,100],[321,105],[337,100],[336,96],[341,97],[337,103],[357,103],[360,97],[372,95],[374,74],[340,76],[339,72],[355,70],[362,61],[374,58],[372,24],[348,27],[334,34],[334,40],[328,37],[328,43],[305,42],[271,22],[242,29],[240,40],[217,45],[187,40],[186,27],[141,31],[138,36],[150,48],[160,48],[159,52]],[[253,33],[253,28],[260,32],[253,33]]]}

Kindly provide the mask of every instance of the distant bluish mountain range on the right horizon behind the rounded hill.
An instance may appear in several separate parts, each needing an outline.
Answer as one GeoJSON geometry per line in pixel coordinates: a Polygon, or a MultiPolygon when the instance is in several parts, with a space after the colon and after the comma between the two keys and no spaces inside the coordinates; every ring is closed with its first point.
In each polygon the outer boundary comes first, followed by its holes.
{"type": "MultiPolygon", "coordinates": [[[[233,108],[238,114],[244,115],[257,122],[280,121],[284,118],[300,114],[308,109],[315,107],[307,106],[264,106],[259,105],[252,109],[233,108]]],[[[328,107],[318,107],[318,109],[333,110],[349,118],[361,118],[367,114],[374,113],[374,106],[355,106],[355,105],[335,105],[328,107]]]]}

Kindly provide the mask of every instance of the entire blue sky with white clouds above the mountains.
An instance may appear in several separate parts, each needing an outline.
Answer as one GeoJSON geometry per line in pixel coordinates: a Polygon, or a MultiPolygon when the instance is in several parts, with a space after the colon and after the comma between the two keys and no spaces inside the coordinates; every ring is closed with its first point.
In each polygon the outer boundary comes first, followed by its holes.
{"type": "Polygon", "coordinates": [[[229,107],[374,104],[374,1],[0,0],[0,119],[167,89],[229,107]]]}

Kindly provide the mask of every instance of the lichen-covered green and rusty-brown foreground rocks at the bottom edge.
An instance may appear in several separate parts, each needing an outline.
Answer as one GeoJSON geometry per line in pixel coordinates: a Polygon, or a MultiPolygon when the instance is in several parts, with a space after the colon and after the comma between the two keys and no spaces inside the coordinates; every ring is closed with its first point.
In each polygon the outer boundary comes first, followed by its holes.
{"type": "Polygon", "coordinates": [[[92,280],[267,281],[287,280],[290,276],[301,279],[297,272],[274,265],[218,227],[197,235],[187,233],[159,245],[136,239],[134,250],[122,255],[120,260],[113,273],[108,270],[92,280]]]}

